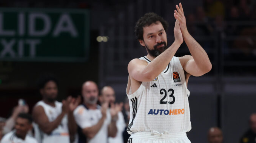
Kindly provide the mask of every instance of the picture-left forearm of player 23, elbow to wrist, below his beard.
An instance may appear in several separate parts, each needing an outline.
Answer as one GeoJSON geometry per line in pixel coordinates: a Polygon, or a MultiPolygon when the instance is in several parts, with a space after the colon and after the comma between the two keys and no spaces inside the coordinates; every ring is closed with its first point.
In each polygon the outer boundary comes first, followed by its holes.
{"type": "Polygon", "coordinates": [[[152,75],[153,78],[157,77],[159,74],[161,74],[163,69],[166,68],[179,47],[180,44],[173,42],[173,44],[167,48],[167,50],[157,56],[146,66],[146,68],[143,70],[143,73],[152,75]]]}

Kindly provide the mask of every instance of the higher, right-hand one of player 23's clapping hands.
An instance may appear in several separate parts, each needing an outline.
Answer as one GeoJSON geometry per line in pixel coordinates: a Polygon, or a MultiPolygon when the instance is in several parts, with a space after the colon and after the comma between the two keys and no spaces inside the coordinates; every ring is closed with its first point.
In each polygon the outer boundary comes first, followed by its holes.
{"type": "Polygon", "coordinates": [[[176,20],[177,19],[179,20],[180,30],[182,33],[184,33],[185,31],[187,31],[187,25],[186,25],[186,18],[185,18],[181,3],[179,3],[179,6],[176,5],[176,9],[177,10],[174,10],[174,17],[176,20]]]}

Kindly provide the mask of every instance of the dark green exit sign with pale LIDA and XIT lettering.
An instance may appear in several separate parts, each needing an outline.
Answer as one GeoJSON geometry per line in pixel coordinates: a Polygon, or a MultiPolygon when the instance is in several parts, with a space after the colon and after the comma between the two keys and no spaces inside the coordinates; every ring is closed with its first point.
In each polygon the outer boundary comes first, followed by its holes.
{"type": "Polygon", "coordinates": [[[79,62],[88,56],[88,10],[0,8],[0,60],[79,62]]]}

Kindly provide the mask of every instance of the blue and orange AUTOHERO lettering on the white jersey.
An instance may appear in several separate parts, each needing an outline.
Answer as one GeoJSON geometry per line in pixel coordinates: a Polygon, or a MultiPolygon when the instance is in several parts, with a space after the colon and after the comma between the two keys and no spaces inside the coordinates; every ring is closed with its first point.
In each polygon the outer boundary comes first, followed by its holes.
{"type": "Polygon", "coordinates": [[[170,110],[164,110],[164,109],[150,109],[150,111],[148,112],[149,114],[152,115],[179,115],[179,114],[184,114],[185,113],[185,109],[170,109],[170,110]]]}

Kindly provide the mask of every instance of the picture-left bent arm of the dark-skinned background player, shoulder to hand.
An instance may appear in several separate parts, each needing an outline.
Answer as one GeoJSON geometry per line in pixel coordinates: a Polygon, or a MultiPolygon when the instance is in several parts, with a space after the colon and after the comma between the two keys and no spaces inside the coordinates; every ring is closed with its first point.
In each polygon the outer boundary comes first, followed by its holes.
{"type": "Polygon", "coordinates": [[[48,117],[46,116],[42,106],[34,107],[32,111],[32,117],[35,123],[39,125],[39,128],[42,129],[42,131],[45,132],[46,134],[51,134],[51,132],[60,125],[62,118],[67,113],[66,106],[62,106],[62,113],[52,122],[49,122],[48,117]]]}

